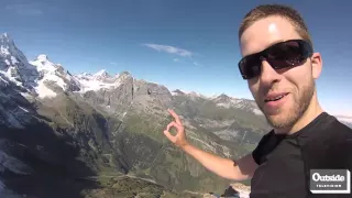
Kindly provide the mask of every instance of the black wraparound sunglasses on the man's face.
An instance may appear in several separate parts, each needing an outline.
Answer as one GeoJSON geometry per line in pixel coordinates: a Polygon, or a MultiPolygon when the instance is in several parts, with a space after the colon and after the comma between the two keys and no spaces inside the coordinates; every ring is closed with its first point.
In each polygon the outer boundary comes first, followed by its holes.
{"type": "Polygon", "coordinates": [[[265,59],[274,69],[299,66],[312,55],[312,47],[302,40],[289,40],[276,43],[262,52],[243,57],[239,62],[243,79],[261,75],[262,62],[265,59]]]}

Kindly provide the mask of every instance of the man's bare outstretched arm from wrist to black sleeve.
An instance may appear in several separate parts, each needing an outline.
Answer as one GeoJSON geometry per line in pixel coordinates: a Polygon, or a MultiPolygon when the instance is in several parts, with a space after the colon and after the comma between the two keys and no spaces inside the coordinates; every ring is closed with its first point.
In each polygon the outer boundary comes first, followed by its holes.
{"type": "Polygon", "coordinates": [[[191,144],[185,144],[182,148],[207,169],[227,179],[249,179],[253,176],[253,173],[257,167],[252,154],[248,154],[238,161],[232,161],[230,158],[223,158],[211,153],[207,153],[191,144]]]}

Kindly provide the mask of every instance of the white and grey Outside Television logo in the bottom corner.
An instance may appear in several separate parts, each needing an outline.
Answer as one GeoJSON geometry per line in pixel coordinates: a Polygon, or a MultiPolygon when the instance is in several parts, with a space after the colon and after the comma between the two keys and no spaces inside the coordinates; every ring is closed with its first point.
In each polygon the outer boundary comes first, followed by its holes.
{"type": "Polygon", "coordinates": [[[351,194],[349,169],[311,169],[310,191],[312,194],[351,194]]]}

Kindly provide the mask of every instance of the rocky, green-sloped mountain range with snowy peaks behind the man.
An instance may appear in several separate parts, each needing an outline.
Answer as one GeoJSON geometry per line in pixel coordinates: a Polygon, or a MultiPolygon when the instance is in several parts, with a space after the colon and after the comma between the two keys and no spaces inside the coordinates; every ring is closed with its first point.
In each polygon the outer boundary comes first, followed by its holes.
{"type": "Polygon", "coordinates": [[[229,180],[166,140],[166,109],[182,116],[190,142],[229,158],[253,150],[270,130],[252,100],[170,91],[129,72],[73,75],[44,54],[28,61],[8,34],[0,47],[0,195],[222,191],[229,180]]]}

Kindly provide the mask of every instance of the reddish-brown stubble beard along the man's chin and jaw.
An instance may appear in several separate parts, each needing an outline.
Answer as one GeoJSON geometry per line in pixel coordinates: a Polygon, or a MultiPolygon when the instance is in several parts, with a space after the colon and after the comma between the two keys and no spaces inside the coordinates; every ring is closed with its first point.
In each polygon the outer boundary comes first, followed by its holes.
{"type": "Polygon", "coordinates": [[[302,117],[302,114],[308,109],[315,94],[315,80],[311,79],[311,81],[301,90],[301,94],[299,95],[300,97],[294,95],[289,96],[294,99],[293,107],[290,109],[286,108],[285,110],[279,109],[277,114],[275,116],[266,114],[265,111],[263,111],[263,107],[260,107],[260,109],[264,113],[268,124],[274,129],[290,128],[302,117]]]}

